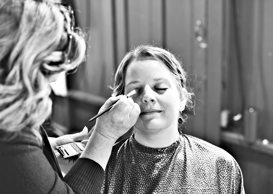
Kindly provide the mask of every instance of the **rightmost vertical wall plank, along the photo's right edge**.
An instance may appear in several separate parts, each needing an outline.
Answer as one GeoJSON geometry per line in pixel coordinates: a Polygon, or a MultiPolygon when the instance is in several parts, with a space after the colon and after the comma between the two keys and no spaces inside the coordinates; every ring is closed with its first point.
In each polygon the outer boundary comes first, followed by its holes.
{"type": "Polygon", "coordinates": [[[260,68],[259,78],[261,80],[261,86],[257,88],[261,90],[261,98],[256,101],[257,107],[261,110],[262,125],[258,128],[261,131],[262,138],[270,138],[273,141],[273,1],[263,1],[262,5],[262,22],[263,22],[263,34],[262,34],[262,54],[261,61],[263,66],[260,68]],[[266,131],[264,129],[267,129],[266,131]]]}

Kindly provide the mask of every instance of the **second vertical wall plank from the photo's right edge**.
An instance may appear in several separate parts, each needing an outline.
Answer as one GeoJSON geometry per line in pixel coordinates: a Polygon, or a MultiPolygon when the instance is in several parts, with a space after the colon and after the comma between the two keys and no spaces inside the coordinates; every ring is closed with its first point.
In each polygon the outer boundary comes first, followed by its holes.
{"type": "MultiPolygon", "coordinates": [[[[267,27],[267,25],[263,24],[263,1],[254,1],[253,2],[253,37],[251,37],[253,41],[253,47],[252,47],[252,55],[249,56],[251,58],[251,66],[253,67],[253,72],[251,76],[251,80],[249,82],[249,106],[256,109],[256,111],[259,112],[258,114],[258,125],[257,125],[257,136],[264,136],[267,137],[267,135],[271,136],[272,130],[265,130],[268,129],[268,124],[270,116],[268,113],[265,113],[268,105],[266,103],[267,95],[265,94],[265,88],[263,88],[264,82],[261,82],[261,79],[263,79],[263,76],[261,76],[261,72],[263,70],[263,33],[264,26],[267,27]],[[255,78],[255,79],[253,79],[255,78]],[[264,104],[265,103],[265,104],[264,104]]],[[[273,13],[273,12],[272,12],[273,13]]],[[[250,22],[248,20],[248,22],[250,22]]],[[[268,38],[266,38],[269,40],[268,38]]],[[[249,106],[247,108],[249,108],[249,106]]]]}

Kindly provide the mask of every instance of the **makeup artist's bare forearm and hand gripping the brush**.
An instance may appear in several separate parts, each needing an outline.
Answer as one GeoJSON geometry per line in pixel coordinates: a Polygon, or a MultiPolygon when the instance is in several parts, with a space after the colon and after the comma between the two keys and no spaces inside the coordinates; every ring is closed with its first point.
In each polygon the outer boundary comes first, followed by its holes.
{"type": "Polygon", "coordinates": [[[111,110],[96,120],[96,125],[80,158],[89,158],[99,163],[105,170],[116,140],[125,134],[135,123],[140,114],[139,105],[126,95],[111,97],[99,112],[110,105],[111,110]],[[116,102],[118,101],[118,102],[116,102]]]}

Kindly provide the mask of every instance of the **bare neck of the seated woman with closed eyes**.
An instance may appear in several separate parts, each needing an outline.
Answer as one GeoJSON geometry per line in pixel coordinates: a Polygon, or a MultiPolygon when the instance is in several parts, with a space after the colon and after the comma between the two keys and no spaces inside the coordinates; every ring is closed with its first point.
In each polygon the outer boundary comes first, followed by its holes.
{"type": "Polygon", "coordinates": [[[140,131],[134,128],[134,139],[137,143],[151,148],[164,148],[169,147],[179,137],[179,132],[176,128],[167,128],[162,131],[140,131]]]}

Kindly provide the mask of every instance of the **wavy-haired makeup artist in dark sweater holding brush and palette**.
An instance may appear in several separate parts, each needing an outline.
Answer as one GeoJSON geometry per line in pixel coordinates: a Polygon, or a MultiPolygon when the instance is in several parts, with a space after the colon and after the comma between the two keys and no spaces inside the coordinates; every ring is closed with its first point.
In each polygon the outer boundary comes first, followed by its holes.
{"type": "MultiPolygon", "coordinates": [[[[1,193],[100,192],[112,146],[135,124],[139,106],[125,95],[108,99],[100,111],[116,104],[97,118],[85,150],[65,177],[51,146],[68,143],[67,136],[49,143],[41,127],[51,113],[49,82],[77,68],[85,51],[69,5],[0,0],[1,193]]],[[[85,134],[86,129],[76,136],[85,134]]]]}

